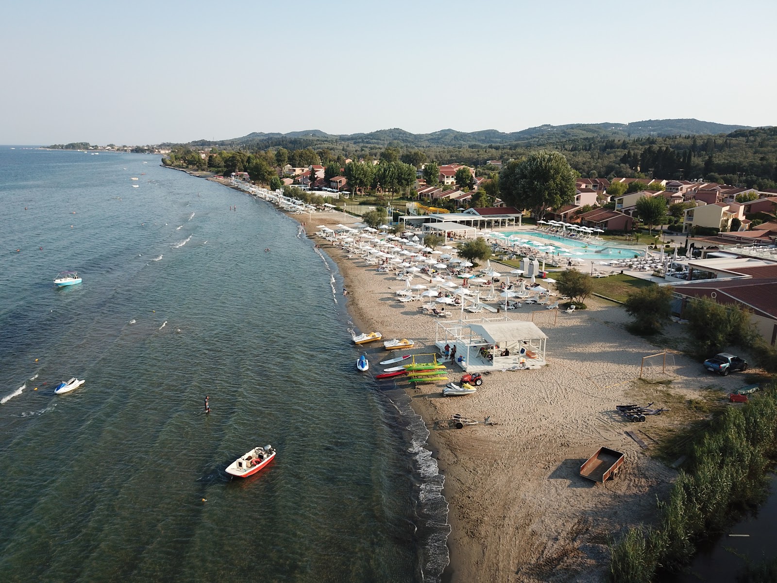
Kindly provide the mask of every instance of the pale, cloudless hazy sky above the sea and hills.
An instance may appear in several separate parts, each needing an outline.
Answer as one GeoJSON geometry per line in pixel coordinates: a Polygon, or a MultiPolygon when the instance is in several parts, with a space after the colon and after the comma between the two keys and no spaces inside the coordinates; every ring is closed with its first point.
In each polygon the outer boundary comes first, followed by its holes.
{"type": "Polygon", "coordinates": [[[774,0],[5,2],[0,144],[777,124],[774,0]]]}

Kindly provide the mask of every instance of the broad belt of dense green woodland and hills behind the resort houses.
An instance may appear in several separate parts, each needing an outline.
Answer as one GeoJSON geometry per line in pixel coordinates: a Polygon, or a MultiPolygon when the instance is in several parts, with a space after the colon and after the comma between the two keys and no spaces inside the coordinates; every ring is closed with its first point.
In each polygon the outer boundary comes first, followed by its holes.
{"type": "Polygon", "coordinates": [[[648,176],[703,179],[761,189],[777,187],[777,127],[741,128],[726,134],[646,134],[646,129],[681,127],[681,122],[687,122],[688,129],[720,126],[697,120],[556,126],[553,131],[532,128],[516,132],[521,134],[517,138],[516,134],[497,131],[462,134],[452,130],[434,134],[385,130],[350,136],[322,131],[249,134],[235,140],[171,145],[169,163],[234,172],[247,170],[246,162],[256,159],[267,166],[343,166],[347,158],[364,158],[416,167],[430,161],[460,162],[485,174],[497,169],[486,166],[488,160],[507,162],[537,148],[547,148],[562,152],[573,169],[586,177],[648,176]],[[629,136],[639,133],[637,130],[642,134],[629,136]],[[469,143],[455,145],[454,134],[465,136],[469,143]],[[499,139],[490,141],[492,138],[499,139]],[[206,148],[211,155],[201,159],[197,152],[206,148]]]}

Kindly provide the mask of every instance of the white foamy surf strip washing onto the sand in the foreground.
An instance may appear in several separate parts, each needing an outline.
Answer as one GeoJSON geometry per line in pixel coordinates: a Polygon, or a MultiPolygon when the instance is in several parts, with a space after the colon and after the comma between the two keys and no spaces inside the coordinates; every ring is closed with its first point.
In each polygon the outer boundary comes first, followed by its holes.
{"type": "Polygon", "coordinates": [[[416,527],[417,535],[423,541],[421,579],[438,583],[450,562],[448,535],[451,533],[451,525],[448,524],[448,501],[442,495],[445,477],[440,473],[432,452],[426,447],[429,430],[423,422],[423,417],[410,407],[409,396],[403,393],[391,402],[407,421],[410,431],[410,446],[407,451],[420,477],[416,527]]]}

